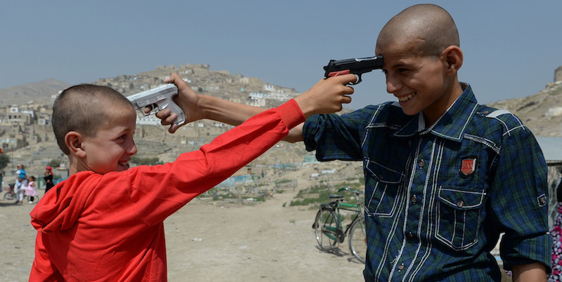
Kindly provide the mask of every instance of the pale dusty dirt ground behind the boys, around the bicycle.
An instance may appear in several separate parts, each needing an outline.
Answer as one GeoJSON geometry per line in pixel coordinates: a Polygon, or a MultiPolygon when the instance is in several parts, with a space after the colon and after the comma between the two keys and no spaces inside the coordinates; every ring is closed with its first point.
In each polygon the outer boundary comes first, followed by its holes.
{"type": "MultiPolygon", "coordinates": [[[[347,241],[320,251],[315,210],[283,203],[293,189],[257,204],[195,199],[164,223],[169,281],[363,281],[347,241]]],[[[43,192],[39,192],[40,195],[43,192]]],[[[0,201],[0,281],[27,281],[34,259],[33,205],[0,201]]]]}

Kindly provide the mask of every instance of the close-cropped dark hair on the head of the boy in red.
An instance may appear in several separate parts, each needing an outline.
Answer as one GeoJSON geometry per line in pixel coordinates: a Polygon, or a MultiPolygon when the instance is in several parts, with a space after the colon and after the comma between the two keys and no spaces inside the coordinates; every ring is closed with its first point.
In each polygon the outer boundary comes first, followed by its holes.
{"type": "Polygon", "coordinates": [[[93,137],[100,125],[109,121],[112,111],[123,107],[134,107],[121,93],[107,86],[79,84],[64,90],[53,104],[53,131],[58,147],[65,154],[70,150],[65,144],[65,135],[76,131],[93,137]]]}

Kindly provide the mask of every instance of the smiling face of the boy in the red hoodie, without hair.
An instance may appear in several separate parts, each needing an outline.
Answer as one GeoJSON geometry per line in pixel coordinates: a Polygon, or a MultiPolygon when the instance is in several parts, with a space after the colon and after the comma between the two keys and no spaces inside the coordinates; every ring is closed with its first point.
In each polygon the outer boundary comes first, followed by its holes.
{"type": "Polygon", "coordinates": [[[109,119],[101,124],[94,136],[84,136],[81,150],[84,156],[77,170],[92,170],[105,174],[129,169],[131,156],[137,149],[133,140],[136,113],[132,107],[109,107],[109,119]]]}

